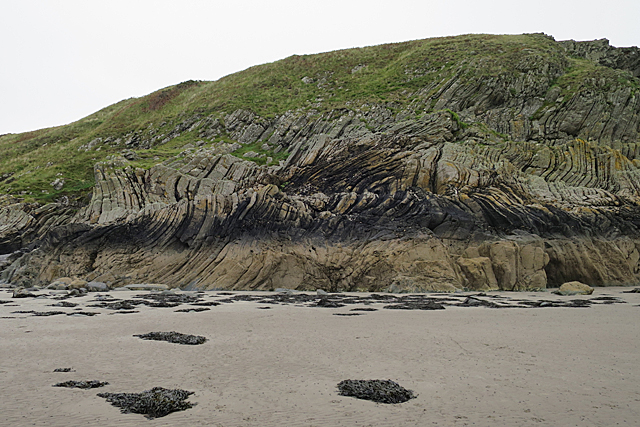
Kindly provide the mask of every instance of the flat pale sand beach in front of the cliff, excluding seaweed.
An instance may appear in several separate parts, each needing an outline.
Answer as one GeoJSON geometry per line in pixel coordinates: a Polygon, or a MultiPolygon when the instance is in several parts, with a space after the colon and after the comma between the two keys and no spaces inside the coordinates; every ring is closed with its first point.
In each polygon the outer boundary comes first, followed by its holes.
{"type": "Polygon", "coordinates": [[[89,293],[64,300],[75,307],[58,307],[50,305],[60,296],[49,291],[14,299],[2,289],[0,424],[633,426],[640,418],[640,293],[630,290],[474,297],[505,308],[464,304],[477,293],[434,296],[449,302],[444,310],[385,309],[389,301],[358,299],[368,294],[341,294],[356,299],[331,308],[233,300],[273,293],[178,291],[222,303],[200,306],[210,308],[201,312],[176,312],[196,307],[186,303],[140,304],[123,314],[91,305],[149,293],[89,293]],[[590,303],[535,306],[571,300],[590,303]],[[47,311],[64,314],[34,315],[47,311]],[[207,342],[133,336],[152,331],[200,335],[207,342]],[[71,372],[54,372],[67,367],[71,372]],[[345,379],[391,379],[417,397],[390,405],[341,396],[336,386],[345,379]],[[53,387],[67,380],[109,385],[53,387]],[[153,387],[192,391],[189,401],[197,405],[148,420],[97,396],[153,387]]]}

